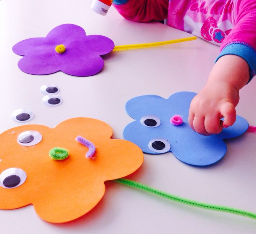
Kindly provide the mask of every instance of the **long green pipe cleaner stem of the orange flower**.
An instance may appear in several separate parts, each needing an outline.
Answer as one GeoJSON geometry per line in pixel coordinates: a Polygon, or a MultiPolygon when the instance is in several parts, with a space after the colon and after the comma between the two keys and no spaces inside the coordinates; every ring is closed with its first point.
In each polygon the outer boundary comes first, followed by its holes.
{"type": "Polygon", "coordinates": [[[130,187],[133,187],[135,189],[140,189],[145,192],[153,193],[160,197],[164,197],[169,200],[183,203],[183,204],[186,204],[189,206],[195,206],[195,207],[208,209],[208,210],[222,211],[222,212],[227,212],[227,213],[231,213],[234,215],[241,215],[241,216],[246,216],[248,218],[256,219],[255,213],[249,212],[246,210],[240,210],[240,209],[236,209],[236,208],[232,208],[232,207],[219,206],[219,205],[215,205],[215,204],[209,204],[209,203],[203,203],[203,202],[199,202],[199,201],[189,200],[187,198],[178,197],[176,195],[172,195],[170,193],[166,193],[166,192],[154,189],[152,187],[149,187],[145,184],[141,184],[136,181],[131,181],[130,179],[121,178],[121,179],[115,179],[114,181],[119,184],[124,184],[124,185],[130,186],[130,187]]]}

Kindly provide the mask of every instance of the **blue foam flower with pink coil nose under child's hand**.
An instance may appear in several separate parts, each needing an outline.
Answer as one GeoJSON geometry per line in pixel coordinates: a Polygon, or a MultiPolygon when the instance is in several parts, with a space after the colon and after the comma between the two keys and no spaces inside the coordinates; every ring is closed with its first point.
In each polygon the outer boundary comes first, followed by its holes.
{"type": "Polygon", "coordinates": [[[195,95],[193,92],[178,92],[168,99],[157,95],[132,98],[126,103],[126,111],[135,121],[125,127],[124,139],[137,144],[144,153],[149,154],[159,154],[149,148],[151,140],[168,140],[171,145],[168,152],[190,165],[206,166],[219,161],[227,150],[223,139],[241,135],[249,125],[244,118],[236,116],[234,125],[224,128],[217,135],[203,136],[194,132],[188,124],[188,111],[195,95]],[[143,126],[140,120],[147,115],[159,117],[161,124],[158,127],[143,126]],[[170,123],[174,115],[182,116],[182,125],[170,123]]]}

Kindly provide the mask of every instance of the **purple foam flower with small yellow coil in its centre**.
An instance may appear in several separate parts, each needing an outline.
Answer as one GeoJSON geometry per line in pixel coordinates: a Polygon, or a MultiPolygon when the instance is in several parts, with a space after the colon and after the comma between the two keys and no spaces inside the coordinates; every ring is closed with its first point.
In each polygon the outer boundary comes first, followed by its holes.
{"type": "Polygon", "coordinates": [[[46,37],[35,37],[18,42],[13,52],[24,56],[18,67],[25,73],[46,75],[62,71],[73,76],[92,76],[103,68],[105,55],[114,49],[114,42],[106,36],[85,35],[82,27],[62,24],[46,37]],[[64,53],[55,47],[63,44],[64,53]]]}

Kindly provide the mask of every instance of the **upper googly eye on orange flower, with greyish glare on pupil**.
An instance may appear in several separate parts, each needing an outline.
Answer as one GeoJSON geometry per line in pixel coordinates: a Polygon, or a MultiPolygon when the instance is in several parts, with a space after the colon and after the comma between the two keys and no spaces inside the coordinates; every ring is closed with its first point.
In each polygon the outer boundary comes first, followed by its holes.
{"type": "Polygon", "coordinates": [[[38,131],[29,130],[18,136],[17,142],[20,145],[32,146],[38,144],[42,140],[42,135],[38,131]]]}

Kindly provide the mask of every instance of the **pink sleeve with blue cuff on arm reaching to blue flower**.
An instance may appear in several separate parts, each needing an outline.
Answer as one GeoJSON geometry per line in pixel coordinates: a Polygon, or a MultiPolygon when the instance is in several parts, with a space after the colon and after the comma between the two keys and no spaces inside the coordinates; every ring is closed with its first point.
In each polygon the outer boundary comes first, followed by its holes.
{"type": "Polygon", "coordinates": [[[235,26],[223,40],[220,55],[237,55],[245,59],[250,68],[250,79],[256,75],[256,1],[239,0],[234,9],[235,26]]]}

